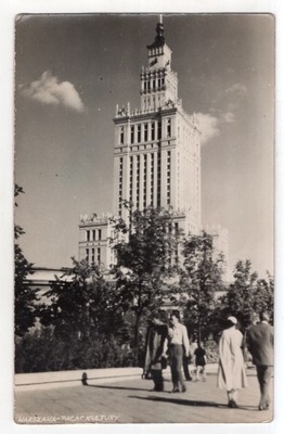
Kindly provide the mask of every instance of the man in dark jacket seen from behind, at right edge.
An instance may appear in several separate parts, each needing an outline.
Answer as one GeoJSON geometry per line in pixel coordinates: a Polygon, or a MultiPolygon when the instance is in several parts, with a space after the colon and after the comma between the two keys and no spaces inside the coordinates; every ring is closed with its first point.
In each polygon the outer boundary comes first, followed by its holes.
{"type": "Polygon", "coordinates": [[[259,410],[268,410],[270,404],[269,387],[273,373],[273,327],[269,324],[269,315],[262,311],[260,322],[250,326],[246,335],[246,343],[253,356],[253,363],[257,368],[257,378],[260,386],[259,410]]]}

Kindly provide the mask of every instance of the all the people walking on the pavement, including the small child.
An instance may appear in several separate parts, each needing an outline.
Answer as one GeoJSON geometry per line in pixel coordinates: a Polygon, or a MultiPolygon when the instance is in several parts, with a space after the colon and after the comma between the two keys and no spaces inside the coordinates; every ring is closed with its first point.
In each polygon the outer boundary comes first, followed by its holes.
{"type": "MultiPolygon", "coordinates": [[[[160,310],[152,316],[147,332],[144,371],[151,372],[154,391],[164,391],[163,369],[169,362],[171,370],[172,393],[183,393],[186,386],[182,368],[194,357],[195,380],[203,375],[206,380],[206,352],[198,343],[191,348],[188,330],[180,322],[179,310],[172,310],[167,326],[166,312],[160,310]]],[[[260,386],[259,410],[267,410],[270,405],[270,383],[273,373],[273,327],[269,316],[261,312],[245,335],[237,328],[237,319],[230,316],[219,341],[219,367],[217,386],[225,390],[228,407],[237,408],[238,391],[247,386],[244,361],[244,347],[248,349],[256,365],[260,386]]],[[[191,373],[184,369],[186,380],[191,373]]]]}

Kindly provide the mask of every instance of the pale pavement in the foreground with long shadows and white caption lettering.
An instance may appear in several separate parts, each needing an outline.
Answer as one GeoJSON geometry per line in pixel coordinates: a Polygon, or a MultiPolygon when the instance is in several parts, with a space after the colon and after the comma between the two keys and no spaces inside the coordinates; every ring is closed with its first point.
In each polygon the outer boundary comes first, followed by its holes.
{"type": "Polygon", "coordinates": [[[87,373],[86,385],[70,381],[64,386],[60,382],[24,386],[22,382],[15,386],[14,419],[24,424],[271,422],[272,409],[258,410],[256,371],[248,369],[247,375],[248,387],[240,391],[237,409],[228,408],[215,370],[206,382],[186,382],[185,393],[173,394],[169,371],[164,375],[165,392],[152,392],[152,380],[138,373],[95,379],[87,373]]]}

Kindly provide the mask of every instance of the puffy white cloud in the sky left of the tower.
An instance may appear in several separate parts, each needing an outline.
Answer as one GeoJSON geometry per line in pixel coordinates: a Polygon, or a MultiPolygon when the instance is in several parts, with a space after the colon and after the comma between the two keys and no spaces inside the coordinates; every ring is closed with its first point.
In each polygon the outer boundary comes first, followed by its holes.
{"type": "Polygon", "coordinates": [[[24,97],[42,104],[63,105],[79,113],[85,111],[74,85],[69,81],[60,82],[49,71],[46,71],[39,80],[21,85],[20,91],[24,97]]]}

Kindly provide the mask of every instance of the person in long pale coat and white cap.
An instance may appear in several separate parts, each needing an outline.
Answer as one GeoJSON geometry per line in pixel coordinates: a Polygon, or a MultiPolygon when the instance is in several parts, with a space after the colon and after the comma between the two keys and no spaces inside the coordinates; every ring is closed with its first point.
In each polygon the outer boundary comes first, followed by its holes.
{"type": "Polygon", "coordinates": [[[243,334],[236,329],[235,317],[228,318],[228,327],[219,342],[219,368],[217,386],[228,394],[228,407],[237,408],[238,390],[247,386],[243,356],[243,334]]]}

